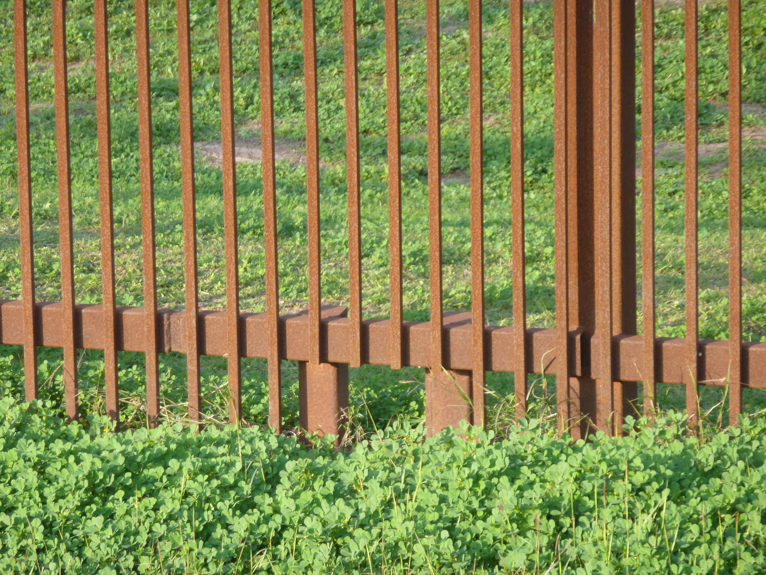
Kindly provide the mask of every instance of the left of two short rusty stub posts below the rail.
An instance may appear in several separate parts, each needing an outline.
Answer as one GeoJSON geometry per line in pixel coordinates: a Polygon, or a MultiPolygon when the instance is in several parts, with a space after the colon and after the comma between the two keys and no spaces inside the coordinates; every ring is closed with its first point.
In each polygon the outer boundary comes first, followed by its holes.
{"type": "Polygon", "coordinates": [[[349,365],[300,361],[298,397],[300,429],[341,442],[349,420],[349,365]]]}

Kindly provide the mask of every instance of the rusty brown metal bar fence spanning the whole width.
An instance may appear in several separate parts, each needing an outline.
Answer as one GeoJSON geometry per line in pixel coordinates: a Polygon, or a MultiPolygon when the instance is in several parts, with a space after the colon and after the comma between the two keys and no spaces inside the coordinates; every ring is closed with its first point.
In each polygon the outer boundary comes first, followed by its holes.
{"type": "Polygon", "coordinates": [[[95,53],[103,304],[74,301],[72,205],[67,102],[65,0],[53,0],[54,81],[61,241],[61,302],[35,301],[25,0],[15,0],[15,85],[21,301],[0,302],[0,341],[23,344],[27,399],[38,393],[36,347],[64,348],[67,416],[78,415],[77,349],[104,351],[106,407],[119,422],[117,351],[146,353],[146,405],[159,415],[158,353],[185,353],[188,411],[201,418],[200,356],[228,359],[230,418],[241,416],[241,357],[268,360],[269,422],[280,431],[280,362],[297,360],[300,426],[342,431],[349,405],[348,367],[364,363],[424,366],[429,432],[461,419],[484,424],[486,371],[515,375],[516,415],[526,410],[529,373],[557,379],[558,423],[575,438],[589,430],[617,432],[637,409],[652,412],[656,383],[686,386],[692,422],[700,385],[728,386],[729,415],[741,409],[743,387],[766,388],[766,344],[741,337],[741,61],[740,5],[728,0],[729,74],[729,333],[700,340],[698,330],[697,2],[686,0],[686,337],[656,337],[654,311],[654,53],[653,0],[640,2],[643,159],[640,166],[643,326],[637,335],[636,5],[633,0],[554,0],[555,73],[555,329],[528,327],[525,317],[524,77],[522,0],[510,0],[510,127],[512,222],[511,327],[485,324],[483,278],[482,5],[467,0],[470,43],[470,228],[472,310],[444,311],[440,179],[439,2],[426,0],[427,165],[430,321],[402,314],[401,153],[397,0],[385,0],[388,200],[391,312],[362,317],[360,169],[355,0],[343,2],[345,114],[349,210],[349,305],[322,306],[319,242],[319,125],[314,0],[303,0],[306,89],[309,305],[280,315],[277,195],[274,159],[271,2],[259,0],[260,102],[263,145],[267,307],[241,312],[237,277],[237,192],[234,161],[230,0],[218,0],[221,142],[226,258],[225,311],[198,305],[194,134],[188,0],[178,0],[178,97],[181,118],[185,311],[158,308],[152,181],[149,7],[136,0],[139,153],[144,307],[117,307],[110,158],[110,71],[106,0],[95,0],[95,53]]]}

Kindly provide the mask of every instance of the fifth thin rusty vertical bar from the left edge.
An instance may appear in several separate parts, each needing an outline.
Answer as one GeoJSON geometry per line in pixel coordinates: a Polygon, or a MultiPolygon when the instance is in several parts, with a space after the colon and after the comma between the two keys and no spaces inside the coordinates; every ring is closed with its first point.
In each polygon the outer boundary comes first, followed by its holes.
{"type": "Polygon", "coordinates": [[[191,108],[191,45],[188,0],[177,0],[178,22],[178,113],[181,124],[181,195],[184,229],[184,284],[186,320],[186,378],[188,415],[201,419],[199,381],[199,331],[197,289],[197,214],[194,178],[194,123],[191,108]]]}

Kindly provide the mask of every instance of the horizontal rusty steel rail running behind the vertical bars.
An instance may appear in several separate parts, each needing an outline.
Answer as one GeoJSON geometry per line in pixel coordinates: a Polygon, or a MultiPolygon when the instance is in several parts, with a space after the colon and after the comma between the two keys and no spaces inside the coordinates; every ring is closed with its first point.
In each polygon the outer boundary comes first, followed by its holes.
{"type": "MultiPolygon", "coordinates": [[[[37,345],[63,347],[64,324],[61,302],[36,304],[37,345]]],[[[21,345],[24,342],[22,301],[0,300],[0,343],[21,345]]],[[[185,311],[157,311],[157,348],[160,353],[187,353],[185,311]]],[[[345,307],[322,308],[322,363],[349,363],[349,320],[345,307]]],[[[116,347],[125,351],[146,351],[143,307],[116,308],[116,347]]],[[[205,355],[222,357],[227,349],[227,314],[225,311],[200,311],[200,347],[205,355]]],[[[78,304],[75,307],[75,345],[80,349],[103,349],[103,307],[100,304],[78,304]]],[[[241,357],[267,358],[270,348],[267,314],[241,312],[239,320],[241,357]]],[[[280,359],[309,361],[308,312],[279,318],[280,359]]],[[[430,322],[405,321],[402,330],[405,366],[427,367],[431,350],[430,322]]],[[[526,333],[525,370],[528,373],[558,373],[558,331],[529,328],[526,333]]],[[[470,313],[445,312],[442,327],[444,362],[447,370],[471,370],[473,366],[473,329],[470,313]]],[[[597,353],[598,337],[586,345],[584,331],[569,334],[568,373],[573,377],[589,376],[601,370],[597,353]]],[[[614,337],[614,375],[616,380],[637,381],[643,371],[643,336],[614,337]]],[[[362,324],[362,363],[388,366],[391,363],[391,329],[388,320],[364,320],[362,324]]],[[[488,371],[513,372],[521,360],[513,346],[512,327],[484,327],[485,366],[488,371]]],[[[686,339],[657,337],[655,380],[662,383],[684,383],[686,339]]],[[[700,340],[699,365],[702,385],[723,386],[729,370],[729,343],[725,340],[700,340]]],[[[741,343],[742,385],[766,389],[766,343],[741,343]]]]}

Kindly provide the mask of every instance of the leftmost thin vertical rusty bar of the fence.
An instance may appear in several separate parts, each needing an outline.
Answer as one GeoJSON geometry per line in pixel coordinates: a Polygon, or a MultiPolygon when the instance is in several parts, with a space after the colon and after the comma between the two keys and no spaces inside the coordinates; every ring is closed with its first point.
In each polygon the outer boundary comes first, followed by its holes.
{"type": "Polygon", "coordinates": [[[21,305],[24,309],[25,399],[38,397],[38,350],[34,327],[34,245],[32,178],[29,154],[29,84],[27,71],[27,2],[13,2],[16,146],[18,154],[18,223],[21,248],[21,305]]]}

